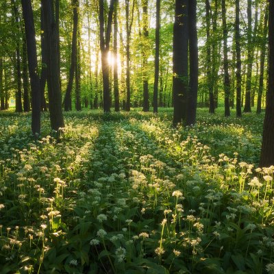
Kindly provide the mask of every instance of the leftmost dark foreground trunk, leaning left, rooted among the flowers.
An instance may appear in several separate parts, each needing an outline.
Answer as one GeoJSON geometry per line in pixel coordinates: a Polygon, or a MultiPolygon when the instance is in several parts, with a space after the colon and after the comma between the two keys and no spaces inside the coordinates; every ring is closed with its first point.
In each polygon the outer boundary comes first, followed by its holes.
{"type": "Polygon", "coordinates": [[[32,133],[40,133],[40,79],[38,76],[38,62],[34,28],[34,14],[31,0],[21,0],[25,21],[25,36],[27,41],[27,61],[29,64],[29,78],[32,88],[32,133]]]}

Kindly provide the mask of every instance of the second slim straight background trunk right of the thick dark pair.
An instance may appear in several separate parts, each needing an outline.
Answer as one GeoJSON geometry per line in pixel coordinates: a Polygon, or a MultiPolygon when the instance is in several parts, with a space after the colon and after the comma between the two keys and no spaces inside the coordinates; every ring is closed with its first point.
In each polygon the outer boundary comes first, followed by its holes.
{"type": "Polygon", "coordinates": [[[223,71],[224,71],[224,89],[225,89],[225,116],[230,116],[229,109],[229,94],[230,94],[230,81],[228,71],[228,57],[227,57],[227,11],[225,0],[222,0],[222,21],[223,21],[223,71]]]}

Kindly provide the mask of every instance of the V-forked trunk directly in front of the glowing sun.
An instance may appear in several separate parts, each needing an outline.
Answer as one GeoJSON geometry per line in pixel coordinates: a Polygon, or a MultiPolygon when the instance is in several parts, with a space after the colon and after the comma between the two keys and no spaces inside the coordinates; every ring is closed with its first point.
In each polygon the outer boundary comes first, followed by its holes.
{"type": "Polygon", "coordinates": [[[110,34],[112,29],[112,16],[114,12],[114,0],[110,1],[108,22],[105,32],[104,1],[99,0],[99,25],[100,25],[100,49],[103,74],[103,111],[110,112],[110,65],[108,53],[110,51],[110,34]]]}

